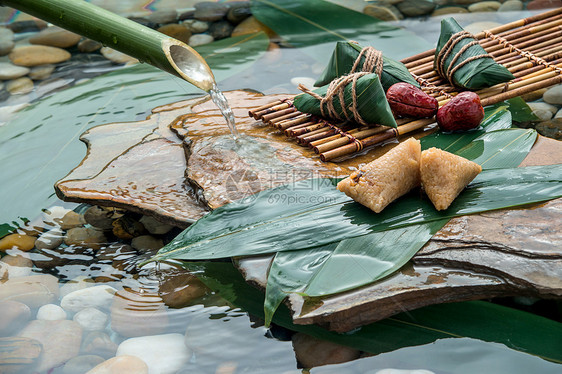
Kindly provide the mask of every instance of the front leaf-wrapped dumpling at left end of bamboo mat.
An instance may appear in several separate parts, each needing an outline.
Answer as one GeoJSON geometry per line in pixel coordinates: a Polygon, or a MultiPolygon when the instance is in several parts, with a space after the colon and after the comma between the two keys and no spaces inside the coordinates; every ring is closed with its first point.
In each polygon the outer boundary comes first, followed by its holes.
{"type": "Polygon", "coordinates": [[[346,75],[314,91],[299,88],[304,93],[295,97],[293,103],[301,112],[361,125],[397,126],[376,74],[346,75]]]}

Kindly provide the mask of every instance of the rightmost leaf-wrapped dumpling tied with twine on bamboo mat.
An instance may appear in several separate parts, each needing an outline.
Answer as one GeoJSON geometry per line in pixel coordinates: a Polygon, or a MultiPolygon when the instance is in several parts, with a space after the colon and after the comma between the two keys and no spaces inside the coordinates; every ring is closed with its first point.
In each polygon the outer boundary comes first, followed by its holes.
{"type": "Polygon", "coordinates": [[[457,87],[477,90],[515,77],[490,56],[474,36],[453,19],[441,21],[441,35],[435,49],[434,68],[457,87]]]}

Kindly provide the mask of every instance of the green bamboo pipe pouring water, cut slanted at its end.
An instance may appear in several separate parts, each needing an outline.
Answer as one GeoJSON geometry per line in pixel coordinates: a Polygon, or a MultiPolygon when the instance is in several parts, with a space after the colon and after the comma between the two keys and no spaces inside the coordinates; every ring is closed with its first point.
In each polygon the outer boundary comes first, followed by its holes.
{"type": "Polygon", "coordinates": [[[210,91],[215,78],[193,48],[82,0],[0,0],[47,22],[96,40],[210,91]]]}

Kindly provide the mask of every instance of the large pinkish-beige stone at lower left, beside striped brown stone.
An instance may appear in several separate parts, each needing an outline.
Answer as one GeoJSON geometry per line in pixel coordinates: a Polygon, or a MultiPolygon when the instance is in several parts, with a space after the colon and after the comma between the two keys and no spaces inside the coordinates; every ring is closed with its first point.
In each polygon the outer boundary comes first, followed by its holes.
{"type": "Polygon", "coordinates": [[[62,365],[80,351],[82,329],[69,320],[31,321],[19,336],[38,340],[43,345],[43,354],[39,359],[37,371],[47,371],[62,365]]]}

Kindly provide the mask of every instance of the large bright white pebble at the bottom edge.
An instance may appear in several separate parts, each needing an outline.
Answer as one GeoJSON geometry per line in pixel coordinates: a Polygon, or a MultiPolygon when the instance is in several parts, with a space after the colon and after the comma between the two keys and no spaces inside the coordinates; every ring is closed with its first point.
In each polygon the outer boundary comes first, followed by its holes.
{"type": "Polygon", "coordinates": [[[125,340],[117,348],[117,356],[123,355],[142,359],[150,374],[173,374],[189,361],[191,351],[181,334],[163,334],[125,340]]]}

